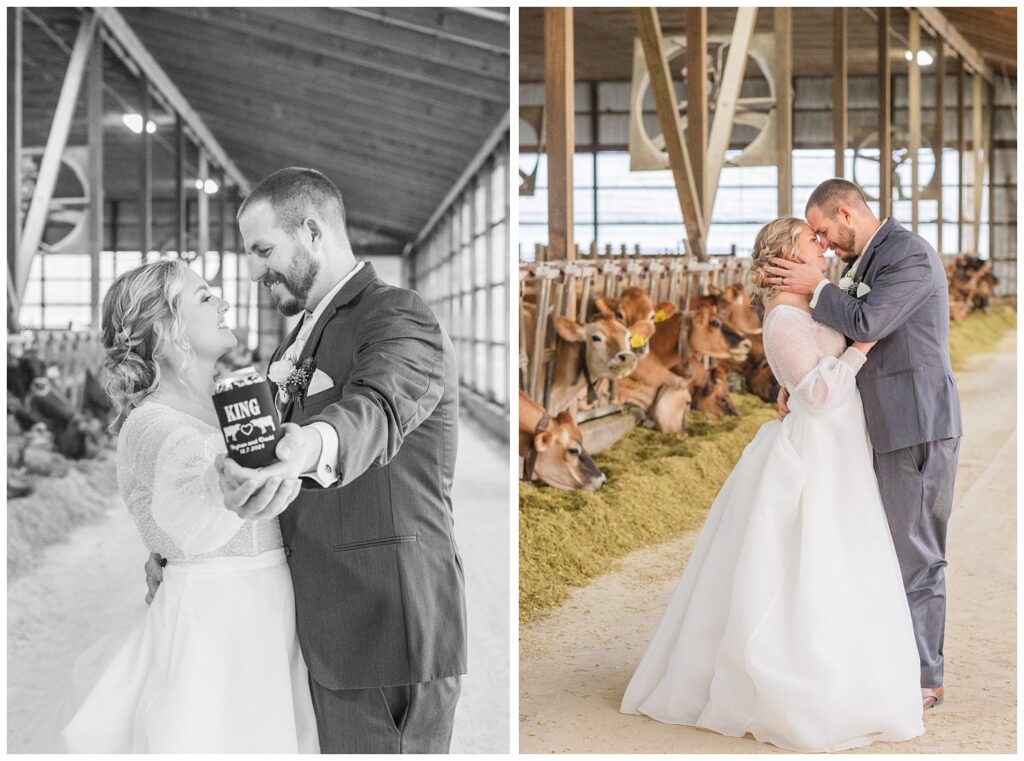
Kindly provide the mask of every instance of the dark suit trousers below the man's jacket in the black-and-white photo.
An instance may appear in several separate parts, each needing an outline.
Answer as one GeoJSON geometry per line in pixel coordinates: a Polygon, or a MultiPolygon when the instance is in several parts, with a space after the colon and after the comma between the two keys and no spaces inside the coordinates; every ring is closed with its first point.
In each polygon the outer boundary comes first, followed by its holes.
{"type": "Polygon", "coordinates": [[[311,676],[321,753],[447,753],[462,677],[328,689],[311,676]]]}

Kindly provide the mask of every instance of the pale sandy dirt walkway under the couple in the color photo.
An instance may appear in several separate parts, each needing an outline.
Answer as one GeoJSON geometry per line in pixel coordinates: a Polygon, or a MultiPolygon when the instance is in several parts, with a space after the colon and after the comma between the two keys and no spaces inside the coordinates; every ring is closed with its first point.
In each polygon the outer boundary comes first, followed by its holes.
{"type": "MultiPolygon", "coordinates": [[[[946,702],[926,733],[873,753],[1015,753],[1016,333],[957,383],[964,412],[949,523],[946,702]]],[[[756,741],[618,713],[696,533],[634,552],[520,631],[520,753],[771,753],[756,741]]]]}

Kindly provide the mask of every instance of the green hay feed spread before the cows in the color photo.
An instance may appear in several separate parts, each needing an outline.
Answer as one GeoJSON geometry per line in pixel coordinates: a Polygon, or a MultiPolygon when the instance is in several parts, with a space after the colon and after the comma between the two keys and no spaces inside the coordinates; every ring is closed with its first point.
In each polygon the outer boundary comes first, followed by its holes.
{"type": "MultiPolygon", "coordinates": [[[[953,367],[991,351],[1017,327],[1013,306],[993,305],[950,327],[953,367]]],[[[700,527],[715,496],[775,406],[733,394],[739,418],[689,413],[688,436],[634,430],[594,456],[608,476],[595,493],[519,484],[519,619],[537,621],[573,587],[641,547],[700,527]]]]}

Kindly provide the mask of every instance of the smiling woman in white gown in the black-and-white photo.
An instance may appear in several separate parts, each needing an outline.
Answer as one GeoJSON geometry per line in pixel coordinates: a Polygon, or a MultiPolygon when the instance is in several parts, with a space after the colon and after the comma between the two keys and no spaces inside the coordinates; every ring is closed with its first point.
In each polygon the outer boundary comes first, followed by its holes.
{"type": "MultiPolygon", "coordinates": [[[[142,542],[168,561],[144,617],[76,664],[61,750],[318,751],[278,520],[225,509],[214,470],[225,452],[214,363],[236,344],[226,310],[170,259],[125,272],[103,300],[108,390],[129,411],[118,483],[142,542]]],[[[299,482],[260,489],[289,499],[299,482]]]]}

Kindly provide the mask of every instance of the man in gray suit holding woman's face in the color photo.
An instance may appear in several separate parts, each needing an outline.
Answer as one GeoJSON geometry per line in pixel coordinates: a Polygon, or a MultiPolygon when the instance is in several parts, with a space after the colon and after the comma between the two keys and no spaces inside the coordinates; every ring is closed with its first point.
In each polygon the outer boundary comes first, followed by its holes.
{"type": "MultiPolygon", "coordinates": [[[[773,284],[811,295],[813,316],[854,341],[878,341],[857,374],[874,472],[921,654],[922,703],[942,703],[946,523],[961,411],[949,364],[948,285],[927,241],[880,221],[853,182],[811,194],[807,222],[846,262],[837,287],[815,265],[774,259],[773,284]]],[[[784,415],[786,394],[779,394],[784,415]]]]}

